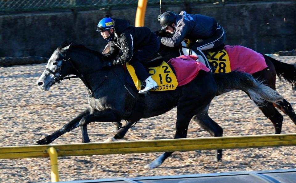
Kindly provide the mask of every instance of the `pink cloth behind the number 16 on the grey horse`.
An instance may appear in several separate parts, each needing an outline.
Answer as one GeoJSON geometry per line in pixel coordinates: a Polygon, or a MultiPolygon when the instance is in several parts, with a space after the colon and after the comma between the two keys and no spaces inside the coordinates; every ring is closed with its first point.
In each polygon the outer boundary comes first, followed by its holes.
{"type": "Polygon", "coordinates": [[[195,55],[182,55],[167,62],[174,67],[179,86],[191,82],[199,70],[210,71],[203,63],[196,62],[197,58],[195,55]]]}

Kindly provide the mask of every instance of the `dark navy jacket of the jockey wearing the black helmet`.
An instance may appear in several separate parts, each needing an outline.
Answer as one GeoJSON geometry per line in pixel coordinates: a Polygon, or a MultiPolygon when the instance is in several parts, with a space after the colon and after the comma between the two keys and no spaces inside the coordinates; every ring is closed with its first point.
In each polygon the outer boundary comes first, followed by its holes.
{"type": "Polygon", "coordinates": [[[177,15],[175,34],[172,38],[161,38],[161,43],[175,47],[179,46],[184,38],[196,41],[198,39],[210,38],[215,34],[217,21],[214,18],[200,14],[187,14],[181,11],[177,15]]]}

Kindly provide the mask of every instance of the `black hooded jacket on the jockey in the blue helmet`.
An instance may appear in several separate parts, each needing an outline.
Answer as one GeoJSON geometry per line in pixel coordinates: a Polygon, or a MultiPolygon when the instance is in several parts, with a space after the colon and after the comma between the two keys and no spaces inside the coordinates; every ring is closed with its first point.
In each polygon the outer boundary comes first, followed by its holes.
{"type": "MultiPolygon", "coordinates": [[[[119,18],[111,18],[114,25],[114,38],[110,42],[110,51],[104,56],[107,58],[116,57],[120,50],[122,56],[113,60],[111,65],[121,65],[129,62],[133,56],[134,51],[139,50],[145,46],[149,41],[152,34],[147,27],[134,27],[130,25],[127,20],[119,18]]],[[[154,34],[154,36],[156,36],[154,34]]]]}

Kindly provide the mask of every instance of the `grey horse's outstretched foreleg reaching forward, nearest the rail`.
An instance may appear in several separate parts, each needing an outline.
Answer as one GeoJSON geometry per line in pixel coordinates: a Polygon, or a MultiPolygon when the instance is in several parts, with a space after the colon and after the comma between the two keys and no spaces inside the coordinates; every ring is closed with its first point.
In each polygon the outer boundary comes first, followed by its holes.
{"type": "Polygon", "coordinates": [[[85,115],[90,114],[89,108],[87,108],[84,112],[82,112],[79,116],[77,116],[75,119],[72,121],[68,122],[66,125],[64,125],[62,128],[59,130],[55,131],[54,133],[51,133],[50,135],[46,136],[45,138],[34,142],[31,145],[45,145],[45,144],[50,144],[52,141],[60,137],[66,132],[70,132],[71,130],[77,128],[79,126],[79,121],[81,120],[82,117],[85,115]]]}

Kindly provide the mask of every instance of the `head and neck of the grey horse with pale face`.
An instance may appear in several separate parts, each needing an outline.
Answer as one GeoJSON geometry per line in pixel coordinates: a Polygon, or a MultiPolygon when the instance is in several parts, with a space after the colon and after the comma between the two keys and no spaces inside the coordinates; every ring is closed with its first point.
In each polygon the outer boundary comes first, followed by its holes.
{"type": "Polygon", "coordinates": [[[64,42],[48,60],[47,66],[36,82],[40,90],[49,90],[69,74],[83,78],[82,74],[98,71],[103,65],[103,55],[83,45],[64,42]]]}

